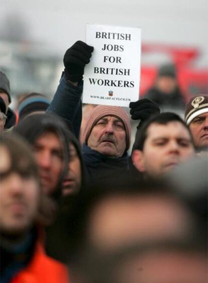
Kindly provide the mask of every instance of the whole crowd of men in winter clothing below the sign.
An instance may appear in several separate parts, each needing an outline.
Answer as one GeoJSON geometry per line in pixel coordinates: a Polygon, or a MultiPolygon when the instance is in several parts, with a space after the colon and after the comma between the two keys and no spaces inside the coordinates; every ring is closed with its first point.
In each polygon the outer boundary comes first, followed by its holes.
{"type": "Polygon", "coordinates": [[[33,92],[16,112],[0,72],[1,282],[207,282],[208,95],[185,105],[166,65],[130,114],[82,117],[91,56],[76,42],[52,101],[33,92]]]}

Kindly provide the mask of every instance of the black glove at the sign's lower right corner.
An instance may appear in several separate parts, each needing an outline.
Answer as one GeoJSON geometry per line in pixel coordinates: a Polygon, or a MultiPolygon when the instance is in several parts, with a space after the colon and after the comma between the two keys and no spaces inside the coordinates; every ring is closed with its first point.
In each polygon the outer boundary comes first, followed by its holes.
{"type": "Polygon", "coordinates": [[[131,108],[132,119],[141,120],[142,123],[149,119],[150,116],[160,113],[158,105],[147,98],[130,102],[129,107],[131,108]]]}

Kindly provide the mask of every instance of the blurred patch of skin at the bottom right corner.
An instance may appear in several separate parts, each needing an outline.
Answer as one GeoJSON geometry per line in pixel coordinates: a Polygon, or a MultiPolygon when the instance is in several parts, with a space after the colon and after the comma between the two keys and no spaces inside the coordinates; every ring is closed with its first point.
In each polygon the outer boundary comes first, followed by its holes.
{"type": "Polygon", "coordinates": [[[207,258],[200,253],[153,249],[120,264],[116,271],[117,283],[205,283],[207,258]]]}

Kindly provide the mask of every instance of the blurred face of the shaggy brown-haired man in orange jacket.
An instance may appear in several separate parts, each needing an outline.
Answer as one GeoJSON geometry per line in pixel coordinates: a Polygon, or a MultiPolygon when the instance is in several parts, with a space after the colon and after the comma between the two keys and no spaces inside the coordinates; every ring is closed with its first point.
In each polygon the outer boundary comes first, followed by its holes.
{"type": "Polygon", "coordinates": [[[40,187],[34,176],[11,170],[8,150],[0,147],[0,226],[4,234],[19,235],[33,224],[38,210],[40,187]],[[11,170],[11,171],[10,171],[11,170]]]}

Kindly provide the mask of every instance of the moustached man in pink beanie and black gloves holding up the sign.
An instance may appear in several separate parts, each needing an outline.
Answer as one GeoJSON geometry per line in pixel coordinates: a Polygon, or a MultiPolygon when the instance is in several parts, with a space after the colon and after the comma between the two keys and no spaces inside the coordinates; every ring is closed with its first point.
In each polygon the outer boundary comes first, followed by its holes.
{"type": "MultiPolygon", "coordinates": [[[[69,120],[77,137],[82,115],[82,76],[92,51],[93,47],[81,41],[66,51],[64,75],[47,110],[69,120]]],[[[132,102],[131,108],[134,120],[143,121],[159,112],[157,105],[146,99],[132,102]]],[[[90,182],[128,172],[127,151],[131,140],[131,126],[127,113],[121,107],[95,107],[83,129],[83,137],[82,154],[90,182]]]]}

